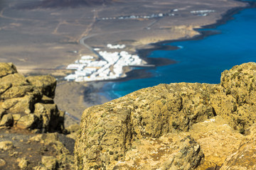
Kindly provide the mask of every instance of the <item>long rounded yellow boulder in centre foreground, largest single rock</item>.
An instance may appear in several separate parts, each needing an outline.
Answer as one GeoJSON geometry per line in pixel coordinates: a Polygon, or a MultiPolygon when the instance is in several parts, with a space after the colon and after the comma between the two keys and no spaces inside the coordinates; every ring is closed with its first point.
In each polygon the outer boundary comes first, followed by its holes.
{"type": "Polygon", "coordinates": [[[186,132],[193,124],[212,118],[215,111],[210,106],[210,91],[214,87],[210,84],[159,84],[88,108],[78,131],[77,163],[83,169],[95,164],[104,164],[109,169],[115,162],[107,150],[124,156],[134,140],[186,132]],[[80,152],[82,150],[84,152],[80,152]],[[98,159],[103,154],[114,163],[107,165],[98,159]]]}

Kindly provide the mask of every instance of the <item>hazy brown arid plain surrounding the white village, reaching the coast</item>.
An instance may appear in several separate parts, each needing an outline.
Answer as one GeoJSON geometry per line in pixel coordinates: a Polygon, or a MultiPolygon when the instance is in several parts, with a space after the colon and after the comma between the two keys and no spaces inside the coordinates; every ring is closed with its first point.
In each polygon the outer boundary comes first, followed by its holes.
{"type": "MultiPolygon", "coordinates": [[[[231,9],[246,5],[233,0],[74,1],[72,6],[50,2],[0,1],[0,62],[13,62],[25,75],[61,79],[70,72],[65,69],[68,64],[81,55],[95,55],[90,47],[107,50],[108,43],[124,44],[124,50],[135,53],[153,48],[151,43],[193,38],[199,35],[195,28],[218,23],[231,9]]],[[[97,95],[100,85],[96,87],[87,94],[97,95]]],[[[85,83],[60,81],[55,101],[79,119],[87,106],[107,101],[85,98],[88,88],[85,83]]]]}

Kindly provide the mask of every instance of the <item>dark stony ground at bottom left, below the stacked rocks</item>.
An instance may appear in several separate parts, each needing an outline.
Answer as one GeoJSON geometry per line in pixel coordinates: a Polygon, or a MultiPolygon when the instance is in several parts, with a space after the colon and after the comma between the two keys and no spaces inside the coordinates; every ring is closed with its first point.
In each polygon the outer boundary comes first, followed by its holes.
{"type": "Polygon", "coordinates": [[[0,169],[74,169],[75,140],[36,130],[0,129],[0,169]]]}

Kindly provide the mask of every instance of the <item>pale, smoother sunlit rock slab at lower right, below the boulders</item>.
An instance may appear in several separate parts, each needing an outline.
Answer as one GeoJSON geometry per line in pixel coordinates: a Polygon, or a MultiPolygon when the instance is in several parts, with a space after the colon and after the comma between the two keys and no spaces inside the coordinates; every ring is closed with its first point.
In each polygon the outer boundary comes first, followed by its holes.
{"type": "Polygon", "coordinates": [[[200,170],[220,168],[226,157],[237,150],[245,138],[220,115],[194,124],[186,134],[191,135],[203,150],[205,161],[198,167],[200,170]]]}

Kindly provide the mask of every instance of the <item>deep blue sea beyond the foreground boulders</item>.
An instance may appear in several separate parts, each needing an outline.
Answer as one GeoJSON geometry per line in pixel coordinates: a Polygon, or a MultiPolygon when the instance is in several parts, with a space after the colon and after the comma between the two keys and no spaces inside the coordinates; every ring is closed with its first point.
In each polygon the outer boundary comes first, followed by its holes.
{"type": "Polygon", "coordinates": [[[225,69],[245,62],[256,62],[256,8],[246,8],[235,14],[233,20],[212,30],[220,34],[210,35],[203,40],[167,44],[180,47],[178,50],[151,52],[148,57],[165,57],[177,63],[146,70],[152,74],[147,79],[109,82],[103,87],[103,93],[114,99],[157,84],[219,84],[220,74],[225,69]]]}

